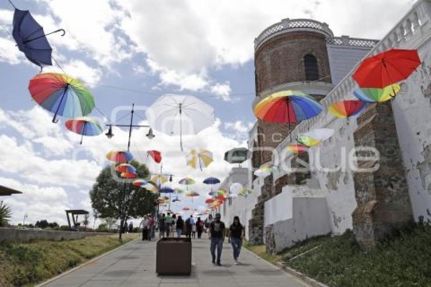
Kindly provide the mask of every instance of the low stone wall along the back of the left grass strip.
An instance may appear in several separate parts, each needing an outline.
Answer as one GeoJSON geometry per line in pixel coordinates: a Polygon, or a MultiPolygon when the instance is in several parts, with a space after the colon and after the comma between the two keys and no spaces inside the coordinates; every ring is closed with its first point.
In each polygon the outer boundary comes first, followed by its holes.
{"type": "Polygon", "coordinates": [[[110,234],[112,235],[115,233],[0,228],[0,242],[29,242],[32,240],[72,240],[81,239],[86,236],[110,234]]]}

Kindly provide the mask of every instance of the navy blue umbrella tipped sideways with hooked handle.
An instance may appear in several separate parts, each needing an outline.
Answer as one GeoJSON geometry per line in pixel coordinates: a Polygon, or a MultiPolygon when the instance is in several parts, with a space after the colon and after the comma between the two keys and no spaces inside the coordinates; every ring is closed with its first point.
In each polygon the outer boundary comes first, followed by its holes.
{"type": "MultiPolygon", "coordinates": [[[[10,3],[12,4],[12,2],[10,3]]],[[[61,35],[64,36],[66,31],[63,29],[45,34],[44,28],[34,20],[29,11],[15,8],[12,37],[25,57],[41,68],[52,65],[52,48],[46,36],[60,31],[62,32],[61,35]]]]}

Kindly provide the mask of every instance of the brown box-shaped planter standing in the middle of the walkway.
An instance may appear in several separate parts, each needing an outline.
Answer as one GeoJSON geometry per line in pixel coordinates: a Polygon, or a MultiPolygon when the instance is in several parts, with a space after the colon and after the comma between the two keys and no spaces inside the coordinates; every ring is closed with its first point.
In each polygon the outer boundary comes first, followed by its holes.
{"type": "Polygon", "coordinates": [[[165,237],[157,241],[156,273],[159,275],[190,275],[192,272],[192,240],[165,237]]]}

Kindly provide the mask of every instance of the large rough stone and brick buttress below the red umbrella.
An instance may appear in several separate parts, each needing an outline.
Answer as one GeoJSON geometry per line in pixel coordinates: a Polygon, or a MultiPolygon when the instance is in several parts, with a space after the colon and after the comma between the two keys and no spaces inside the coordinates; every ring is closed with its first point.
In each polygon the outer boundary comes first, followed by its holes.
{"type": "Polygon", "coordinates": [[[357,118],[357,124],[353,133],[355,146],[375,148],[380,153],[356,151],[356,156],[371,160],[357,161],[361,170],[353,173],[357,201],[352,213],[353,232],[358,242],[368,248],[413,218],[390,102],[371,105],[357,118]],[[364,172],[365,169],[370,171],[364,172]]]}

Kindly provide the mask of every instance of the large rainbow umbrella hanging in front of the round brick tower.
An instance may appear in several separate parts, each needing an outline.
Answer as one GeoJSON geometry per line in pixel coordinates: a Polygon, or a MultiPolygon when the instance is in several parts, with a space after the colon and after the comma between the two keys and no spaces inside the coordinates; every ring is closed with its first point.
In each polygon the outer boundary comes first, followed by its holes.
{"type": "Polygon", "coordinates": [[[253,111],[265,122],[296,123],[317,116],[322,106],[310,95],[288,90],[267,96],[255,105],[253,111]]]}

